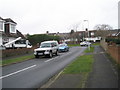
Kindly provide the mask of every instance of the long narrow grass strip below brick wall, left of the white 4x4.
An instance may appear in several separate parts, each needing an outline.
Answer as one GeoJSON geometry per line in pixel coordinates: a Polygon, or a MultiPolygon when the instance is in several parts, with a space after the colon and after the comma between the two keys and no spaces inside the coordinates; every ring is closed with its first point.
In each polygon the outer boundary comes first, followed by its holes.
{"type": "Polygon", "coordinates": [[[18,63],[18,62],[22,62],[22,61],[29,60],[29,59],[32,59],[32,58],[34,58],[34,55],[26,55],[26,56],[13,58],[13,59],[6,59],[6,60],[3,60],[3,61],[0,61],[0,66],[5,66],[5,65],[13,64],[13,63],[18,63]]]}

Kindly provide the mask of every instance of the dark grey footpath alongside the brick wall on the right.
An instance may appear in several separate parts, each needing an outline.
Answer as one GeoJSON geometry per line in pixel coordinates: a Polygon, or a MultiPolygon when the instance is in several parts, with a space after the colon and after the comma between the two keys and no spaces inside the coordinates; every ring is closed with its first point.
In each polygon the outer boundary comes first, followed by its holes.
{"type": "Polygon", "coordinates": [[[100,46],[95,47],[94,65],[87,88],[118,88],[118,72],[100,46]]]}

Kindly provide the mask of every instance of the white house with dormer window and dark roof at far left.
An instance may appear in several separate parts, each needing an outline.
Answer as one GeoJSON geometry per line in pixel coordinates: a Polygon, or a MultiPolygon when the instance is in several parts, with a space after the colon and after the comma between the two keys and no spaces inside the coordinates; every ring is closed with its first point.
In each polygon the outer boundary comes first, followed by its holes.
{"type": "Polygon", "coordinates": [[[13,47],[12,44],[15,43],[15,40],[18,40],[17,38],[26,42],[24,35],[16,29],[16,26],[17,23],[11,18],[3,19],[0,17],[0,49],[10,42],[11,44],[7,45],[7,47],[13,47]]]}

